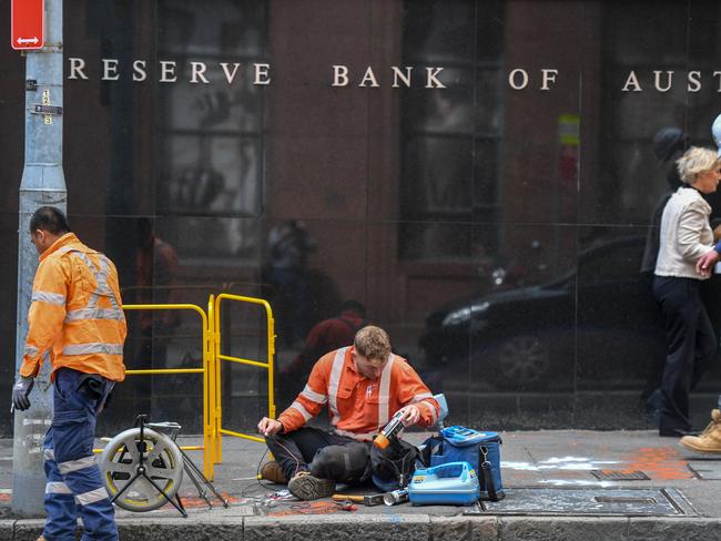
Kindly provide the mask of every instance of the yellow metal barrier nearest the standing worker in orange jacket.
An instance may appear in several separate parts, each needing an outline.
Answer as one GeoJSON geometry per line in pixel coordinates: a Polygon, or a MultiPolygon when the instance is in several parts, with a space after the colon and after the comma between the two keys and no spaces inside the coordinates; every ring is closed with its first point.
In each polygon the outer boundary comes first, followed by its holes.
{"type": "Polygon", "coordinates": [[[202,368],[158,368],[158,369],[143,369],[143,370],[125,370],[128,376],[150,376],[150,375],[171,375],[171,374],[202,374],[203,375],[203,445],[202,446],[187,446],[181,447],[187,451],[203,451],[203,474],[207,479],[212,479],[213,474],[213,440],[211,427],[214,425],[212,419],[212,408],[209,397],[213,396],[214,380],[210,377],[214,372],[214,359],[212,355],[212,340],[210,339],[210,330],[212,321],[209,320],[207,315],[197,305],[194,304],[136,304],[123,305],[125,310],[192,310],[195,312],[202,321],[202,339],[203,339],[203,367],[202,368]]]}

